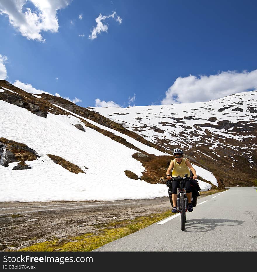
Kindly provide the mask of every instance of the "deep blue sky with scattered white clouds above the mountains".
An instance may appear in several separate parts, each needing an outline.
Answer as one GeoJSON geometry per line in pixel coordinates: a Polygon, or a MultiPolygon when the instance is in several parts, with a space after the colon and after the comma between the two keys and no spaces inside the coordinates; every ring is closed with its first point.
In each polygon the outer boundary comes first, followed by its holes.
{"type": "Polygon", "coordinates": [[[0,0],[0,77],[82,107],[255,90],[256,8],[249,0],[0,0]]]}

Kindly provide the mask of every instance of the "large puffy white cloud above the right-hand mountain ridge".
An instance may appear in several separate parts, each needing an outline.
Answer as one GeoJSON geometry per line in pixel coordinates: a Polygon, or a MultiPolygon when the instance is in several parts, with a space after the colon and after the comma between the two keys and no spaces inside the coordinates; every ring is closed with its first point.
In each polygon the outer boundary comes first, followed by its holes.
{"type": "Polygon", "coordinates": [[[179,77],[166,91],[162,105],[218,99],[233,93],[257,89],[257,70],[226,71],[211,76],[179,77]]]}

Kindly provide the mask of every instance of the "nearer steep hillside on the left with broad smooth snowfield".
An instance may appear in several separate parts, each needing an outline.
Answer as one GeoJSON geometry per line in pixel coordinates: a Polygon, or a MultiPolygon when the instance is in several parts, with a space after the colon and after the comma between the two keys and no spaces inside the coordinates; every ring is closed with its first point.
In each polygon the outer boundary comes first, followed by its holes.
{"type": "Polygon", "coordinates": [[[167,195],[159,176],[144,181],[145,167],[132,157],[166,156],[164,174],[170,156],[161,147],[67,100],[58,100],[65,109],[48,101],[54,97],[26,93],[7,81],[0,86],[0,202],[167,195]]]}

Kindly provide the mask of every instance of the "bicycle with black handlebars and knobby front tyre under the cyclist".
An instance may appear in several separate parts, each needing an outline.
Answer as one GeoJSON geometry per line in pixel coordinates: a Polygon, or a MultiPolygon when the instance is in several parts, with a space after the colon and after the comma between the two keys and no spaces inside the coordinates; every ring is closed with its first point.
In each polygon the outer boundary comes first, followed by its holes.
{"type": "MultiPolygon", "coordinates": [[[[185,182],[187,180],[192,180],[192,177],[187,177],[187,174],[185,174],[185,177],[172,177],[170,181],[179,181],[179,186],[177,189],[177,208],[178,212],[180,213],[180,222],[181,222],[181,230],[185,230],[185,223],[186,223],[186,212],[188,207],[188,199],[185,189],[185,182]]],[[[170,185],[171,186],[171,185],[170,185]]],[[[168,187],[168,184],[167,184],[168,187]]]]}

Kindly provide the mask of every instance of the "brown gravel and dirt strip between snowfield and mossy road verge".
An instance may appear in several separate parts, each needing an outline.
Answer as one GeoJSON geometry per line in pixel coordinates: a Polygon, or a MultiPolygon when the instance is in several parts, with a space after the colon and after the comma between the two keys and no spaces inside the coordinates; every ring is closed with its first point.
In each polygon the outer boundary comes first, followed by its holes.
{"type": "MultiPolygon", "coordinates": [[[[206,194],[201,194],[201,197],[206,194]]],[[[198,199],[199,199],[198,198],[198,199]]],[[[119,201],[51,201],[0,203],[0,251],[16,251],[32,244],[63,240],[99,225],[134,219],[171,209],[169,197],[119,201]]]]}

